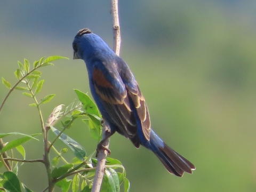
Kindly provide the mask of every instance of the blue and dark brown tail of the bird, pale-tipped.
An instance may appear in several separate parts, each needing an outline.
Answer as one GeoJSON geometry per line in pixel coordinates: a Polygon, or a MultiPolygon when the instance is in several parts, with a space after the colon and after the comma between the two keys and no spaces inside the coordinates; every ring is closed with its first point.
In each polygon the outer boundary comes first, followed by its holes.
{"type": "Polygon", "coordinates": [[[182,177],[184,172],[192,173],[196,169],[186,158],[167,146],[153,130],[150,132],[150,146],[148,148],[156,154],[167,171],[174,175],[182,177]]]}

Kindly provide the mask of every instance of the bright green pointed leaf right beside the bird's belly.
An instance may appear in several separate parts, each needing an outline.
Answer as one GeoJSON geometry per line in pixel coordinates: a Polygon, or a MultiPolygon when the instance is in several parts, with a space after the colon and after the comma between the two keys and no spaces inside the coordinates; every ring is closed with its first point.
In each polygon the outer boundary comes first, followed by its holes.
{"type": "Polygon", "coordinates": [[[100,116],[97,106],[89,97],[89,95],[76,89],[75,89],[75,92],[77,94],[78,99],[82,102],[85,112],[87,114],[94,114],[94,115],[100,116]]]}

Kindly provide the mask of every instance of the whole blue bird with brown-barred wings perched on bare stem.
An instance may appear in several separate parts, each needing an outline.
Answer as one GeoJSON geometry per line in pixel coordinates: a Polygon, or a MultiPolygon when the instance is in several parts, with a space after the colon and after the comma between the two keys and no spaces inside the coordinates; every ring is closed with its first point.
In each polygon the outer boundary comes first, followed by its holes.
{"type": "Polygon", "coordinates": [[[73,41],[74,59],[86,63],[92,96],[103,119],[116,131],[153,151],[167,171],[181,177],[195,166],[167,146],[151,129],[148,107],[125,61],[90,29],[78,31],[73,41]]]}

